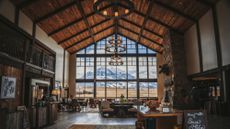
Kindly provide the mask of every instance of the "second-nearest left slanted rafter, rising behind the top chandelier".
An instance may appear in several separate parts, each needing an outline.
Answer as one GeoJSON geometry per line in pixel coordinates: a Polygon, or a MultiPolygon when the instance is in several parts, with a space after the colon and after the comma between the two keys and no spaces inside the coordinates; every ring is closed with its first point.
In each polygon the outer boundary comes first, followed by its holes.
{"type": "MultiPolygon", "coordinates": [[[[109,6],[110,6],[110,5],[105,6],[105,7],[102,8],[101,10],[106,9],[106,8],[108,8],[109,6]]],[[[93,15],[95,15],[95,14],[96,14],[96,12],[93,11],[92,13],[86,15],[86,18],[89,18],[89,17],[91,17],[91,16],[93,16],[93,15]]],[[[72,25],[74,25],[74,24],[76,24],[76,23],[78,23],[78,22],[80,22],[80,21],[82,21],[82,20],[83,20],[83,18],[76,19],[76,20],[74,20],[74,21],[72,21],[72,22],[70,22],[70,23],[64,25],[63,27],[58,28],[57,30],[54,30],[54,31],[48,33],[48,36],[52,36],[52,35],[54,35],[54,34],[60,32],[60,31],[63,31],[64,29],[66,29],[66,28],[68,28],[68,27],[70,27],[70,26],[72,26],[72,25]]]]}

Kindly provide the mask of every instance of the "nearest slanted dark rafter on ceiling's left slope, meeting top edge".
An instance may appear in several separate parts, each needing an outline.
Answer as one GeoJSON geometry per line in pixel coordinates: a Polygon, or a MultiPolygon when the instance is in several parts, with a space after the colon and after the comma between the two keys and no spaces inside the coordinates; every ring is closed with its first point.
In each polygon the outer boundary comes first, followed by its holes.
{"type": "Polygon", "coordinates": [[[70,7],[72,7],[72,6],[74,6],[75,4],[76,4],[76,2],[75,2],[75,1],[72,1],[72,2],[70,2],[70,3],[68,3],[68,4],[64,5],[64,6],[62,6],[61,8],[59,8],[59,9],[57,9],[57,10],[54,10],[54,11],[52,11],[52,12],[50,12],[50,13],[48,13],[48,14],[46,14],[46,15],[40,17],[40,18],[38,18],[37,20],[35,20],[35,23],[39,23],[39,22],[44,21],[44,20],[46,20],[46,19],[48,19],[48,18],[50,18],[50,17],[52,17],[52,16],[54,16],[54,15],[60,13],[60,12],[63,12],[63,11],[65,11],[66,9],[68,9],[68,8],[70,8],[70,7]]]}

